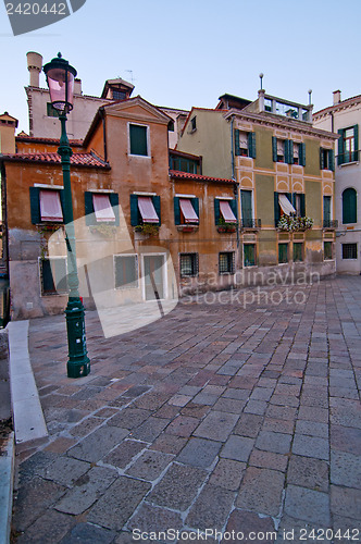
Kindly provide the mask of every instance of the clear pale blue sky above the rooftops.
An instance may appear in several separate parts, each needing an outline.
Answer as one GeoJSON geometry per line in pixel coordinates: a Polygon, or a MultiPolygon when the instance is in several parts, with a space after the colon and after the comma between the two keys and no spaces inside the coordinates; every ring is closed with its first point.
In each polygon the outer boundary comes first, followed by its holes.
{"type": "Polygon", "coordinates": [[[318,111],[336,89],[343,99],[361,94],[360,17],[361,0],[87,0],[15,37],[1,2],[0,113],[28,132],[27,51],[43,63],[61,51],[85,95],[100,96],[105,79],[122,77],[155,106],[214,108],[225,92],[256,100],[262,72],[266,94],[308,103],[312,89],[318,111]]]}

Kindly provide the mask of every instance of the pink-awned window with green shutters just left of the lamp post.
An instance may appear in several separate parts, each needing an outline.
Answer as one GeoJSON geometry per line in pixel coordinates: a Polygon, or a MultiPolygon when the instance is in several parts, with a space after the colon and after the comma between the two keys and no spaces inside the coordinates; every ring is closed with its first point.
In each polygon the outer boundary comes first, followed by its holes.
{"type": "Polygon", "coordinates": [[[32,223],[63,223],[64,190],[30,187],[32,223]]]}

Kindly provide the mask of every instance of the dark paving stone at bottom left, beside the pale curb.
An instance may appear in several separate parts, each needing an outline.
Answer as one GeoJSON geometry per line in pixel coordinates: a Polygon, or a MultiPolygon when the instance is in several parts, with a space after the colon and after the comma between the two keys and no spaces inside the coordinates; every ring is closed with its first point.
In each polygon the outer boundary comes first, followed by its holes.
{"type": "Polygon", "coordinates": [[[14,500],[13,527],[16,531],[24,531],[28,526],[52,506],[66,487],[48,480],[35,477],[20,487],[14,500]]]}

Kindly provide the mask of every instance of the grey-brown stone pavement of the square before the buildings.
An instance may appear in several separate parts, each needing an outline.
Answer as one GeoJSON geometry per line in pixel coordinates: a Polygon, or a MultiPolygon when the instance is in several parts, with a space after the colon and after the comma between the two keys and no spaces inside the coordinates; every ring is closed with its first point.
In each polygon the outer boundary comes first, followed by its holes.
{"type": "Polygon", "coordinates": [[[108,339],[88,312],[78,380],[63,317],[30,322],[49,437],[17,450],[16,543],[361,540],[361,279],[261,292],[108,339]]]}

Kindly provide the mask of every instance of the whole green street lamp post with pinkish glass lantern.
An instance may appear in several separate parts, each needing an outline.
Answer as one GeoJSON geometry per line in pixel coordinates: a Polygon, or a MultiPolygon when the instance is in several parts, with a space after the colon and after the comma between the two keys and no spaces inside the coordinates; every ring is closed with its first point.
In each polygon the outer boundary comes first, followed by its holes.
{"type": "Polygon", "coordinates": [[[61,122],[61,138],[58,153],[61,157],[64,182],[64,223],[67,252],[69,302],[65,310],[69,360],[67,376],[82,378],[90,372],[87,355],[84,306],[79,297],[79,281],[76,267],[75,228],[73,218],[71,157],[73,154],[66,134],[66,115],[73,109],[74,78],[76,70],[61,53],[43,66],[52,107],[58,110],[61,122]]]}

